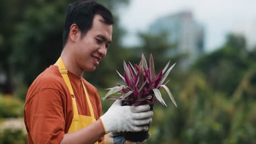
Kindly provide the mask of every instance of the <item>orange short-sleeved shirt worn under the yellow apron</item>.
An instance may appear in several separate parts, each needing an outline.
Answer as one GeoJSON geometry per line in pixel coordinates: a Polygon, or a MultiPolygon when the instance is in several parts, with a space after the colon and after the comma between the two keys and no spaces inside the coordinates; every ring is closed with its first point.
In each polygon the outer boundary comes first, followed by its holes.
{"type": "MultiPolygon", "coordinates": [[[[81,79],[91,100],[97,120],[101,101],[97,89],[82,77],[68,71],[79,115],[90,116],[81,79]]],[[[56,65],[51,65],[32,83],[27,92],[24,121],[30,143],[60,143],[73,119],[72,99],[56,65]]]]}

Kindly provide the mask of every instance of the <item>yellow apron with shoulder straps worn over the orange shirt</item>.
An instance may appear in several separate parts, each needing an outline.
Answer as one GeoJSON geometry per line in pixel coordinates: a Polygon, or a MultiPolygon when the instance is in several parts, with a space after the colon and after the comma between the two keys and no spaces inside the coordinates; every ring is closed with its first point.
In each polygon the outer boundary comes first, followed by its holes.
{"type": "MultiPolygon", "coordinates": [[[[88,93],[87,93],[87,91],[85,89],[84,83],[81,80],[83,88],[84,88],[85,97],[86,97],[86,99],[88,101],[88,106],[89,106],[89,109],[90,109],[91,117],[90,116],[78,115],[77,103],[75,102],[74,92],[73,92],[71,83],[69,81],[68,75],[67,75],[68,71],[67,71],[67,69],[65,67],[65,64],[63,63],[61,57],[58,59],[56,64],[59,67],[60,74],[63,77],[63,79],[64,79],[64,81],[65,81],[65,83],[66,83],[66,85],[67,85],[67,87],[69,89],[70,94],[73,95],[73,97],[74,97],[74,98],[72,98],[74,116],[73,116],[70,128],[68,129],[68,133],[72,133],[74,131],[83,129],[83,128],[87,127],[88,125],[96,122],[96,119],[94,117],[94,110],[92,109],[91,101],[90,101],[88,93]]],[[[96,143],[98,143],[98,142],[96,142],[96,143]]]]}

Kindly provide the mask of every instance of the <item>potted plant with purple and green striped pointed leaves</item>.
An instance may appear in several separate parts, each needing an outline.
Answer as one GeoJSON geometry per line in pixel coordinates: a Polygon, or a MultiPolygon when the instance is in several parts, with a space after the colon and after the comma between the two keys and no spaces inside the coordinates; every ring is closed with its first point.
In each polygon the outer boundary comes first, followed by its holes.
{"type": "MultiPolygon", "coordinates": [[[[149,58],[149,67],[147,65],[146,58],[142,53],[141,62],[139,65],[134,64],[134,66],[129,62],[126,64],[124,61],[124,75],[122,76],[118,71],[118,75],[124,80],[126,85],[121,85],[117,83],[117,86],[109,89],[109,92],[105,95],[104,99],[114,99],[122,100],[122,105],[146,105],[149,104],[151,110],[153,110],[153,105],[157,102],[162,103],[166,106],[164,99],[161,97],[159,91],[160,88],[164,88],[165,91],[170,96],[173,104],[177,107],[177,104],[166,86],[165,80],[174,67],[173,64],[168,68],[170,61],[166,64],[164,69],[159,71],[159,74],[155,74],[154,60],[153,56],[150,55],[149,58]],[[167,69],[168,68],[168,69],[167,69]],[[113,96],[112,94],[118,93],[120,97],[113,96]]],[[[143,141],[147,139],[148,131],[141,132],[124,132],[123,133],[126,140],[133,142],[143,141]]]]}

